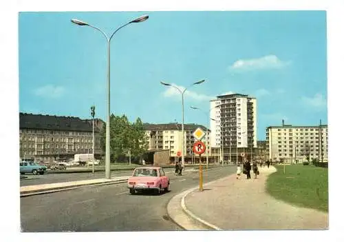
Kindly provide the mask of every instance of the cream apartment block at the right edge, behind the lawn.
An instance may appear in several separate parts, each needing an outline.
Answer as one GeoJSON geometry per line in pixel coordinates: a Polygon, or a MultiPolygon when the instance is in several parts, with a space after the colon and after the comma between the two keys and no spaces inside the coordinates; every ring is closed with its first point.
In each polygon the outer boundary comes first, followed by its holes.
{"type": "Polygon", "coordinates": [[[297,163],[307,157],[328,160],[327,125],[270,126],[266,128],[268,158],[274,162],[297,163]]]}

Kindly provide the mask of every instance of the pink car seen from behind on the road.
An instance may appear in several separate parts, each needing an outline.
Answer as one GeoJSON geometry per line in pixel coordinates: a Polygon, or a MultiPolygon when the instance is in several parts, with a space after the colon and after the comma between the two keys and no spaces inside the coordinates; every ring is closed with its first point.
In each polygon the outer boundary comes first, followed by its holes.
{"type": "Polygon", "coordinates": [[[154,190],[158,194],[169,190],[170,179],[164,170],[158,166],[145,166],[133,170],[133,175],[128,179],[128,188],[131,194],[154,190]]]}

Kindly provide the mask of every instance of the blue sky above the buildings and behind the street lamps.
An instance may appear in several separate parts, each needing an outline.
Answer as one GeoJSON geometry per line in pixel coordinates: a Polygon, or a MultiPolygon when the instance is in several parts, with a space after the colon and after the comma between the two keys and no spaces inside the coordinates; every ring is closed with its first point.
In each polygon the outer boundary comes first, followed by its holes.
{"type": "Polygon", "coordinates": [[[281,119],[327,123],[325,11],[22,12],[19,14],[19,110],[105,120],[107,43],[111,41],[111,112],[169,123],[181,97],[160,81],[189,88],[185,122],[207,125],[209,100],[235,92],[257,97],[258,139],[281,119]]]}

